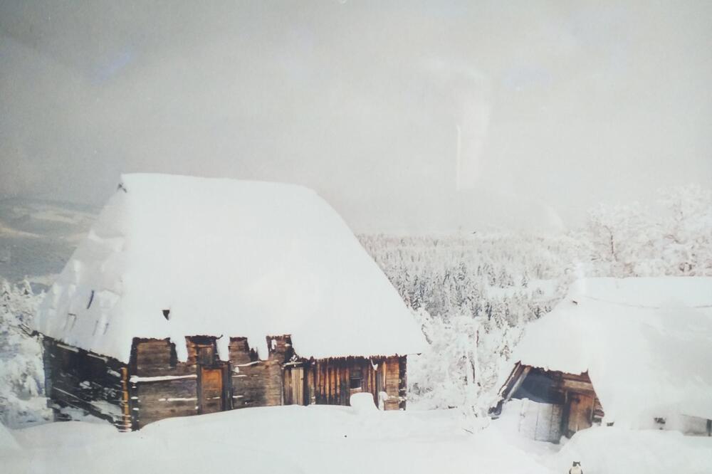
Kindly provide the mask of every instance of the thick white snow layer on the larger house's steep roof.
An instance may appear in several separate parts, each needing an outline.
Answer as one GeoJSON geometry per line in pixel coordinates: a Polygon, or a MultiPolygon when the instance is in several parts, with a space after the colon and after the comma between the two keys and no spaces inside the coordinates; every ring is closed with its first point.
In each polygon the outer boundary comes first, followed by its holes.
{"type": "Polygon", "coordinates": [[[302,357],[420,352],[424,337],[347,224],[301,186],[127,174],[35,329],[127,362],[133,337],[291,334],[302,357]],[[169,320],[163,311],[169,310],[169,320]]]}

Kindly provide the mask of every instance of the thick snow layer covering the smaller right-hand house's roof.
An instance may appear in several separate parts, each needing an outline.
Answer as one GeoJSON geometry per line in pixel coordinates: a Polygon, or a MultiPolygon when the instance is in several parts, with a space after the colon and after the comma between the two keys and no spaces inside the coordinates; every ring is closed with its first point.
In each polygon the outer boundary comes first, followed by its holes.
{"type": "Polygon", "coordinates": [[[580,280],[527,327],[514,360],[588,371],[616,426],[712,418],[712,278],[580,280]]]}

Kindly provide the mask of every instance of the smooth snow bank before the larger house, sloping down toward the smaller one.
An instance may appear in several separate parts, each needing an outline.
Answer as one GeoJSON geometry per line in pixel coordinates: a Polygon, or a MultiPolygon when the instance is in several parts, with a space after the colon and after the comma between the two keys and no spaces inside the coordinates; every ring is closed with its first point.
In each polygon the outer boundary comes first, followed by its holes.
{"type": "Polygon", "coordinates": [[[11,473],[552,474],[501,438],[459,428],[454,411],[276,406],[167,418],[135,433],[83,422],[16,431],[11,473]]]}

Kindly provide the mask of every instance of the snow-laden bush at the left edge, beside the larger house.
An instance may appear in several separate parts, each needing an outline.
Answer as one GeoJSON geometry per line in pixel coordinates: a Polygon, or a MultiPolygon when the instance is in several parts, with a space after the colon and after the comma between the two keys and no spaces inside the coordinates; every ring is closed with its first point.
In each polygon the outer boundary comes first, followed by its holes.
{"type": "Polygon", "coordinates": [[[26,327],[40,299],[26,281],[12,285],[0,279],[0,421],[11,428],[50,415],[43,397],[41,344],[26,327]]]}

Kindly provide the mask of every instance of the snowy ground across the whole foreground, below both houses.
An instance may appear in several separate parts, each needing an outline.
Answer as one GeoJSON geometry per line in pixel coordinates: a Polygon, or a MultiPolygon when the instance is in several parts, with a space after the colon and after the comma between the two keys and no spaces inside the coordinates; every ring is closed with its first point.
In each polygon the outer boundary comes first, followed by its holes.
{"type": "MultiPolygon", "coordinates": [[[[0,431],[8,473],[566,473],[710,472],[712,438],[593,428],[565,446],[518,438],[505,420],[476,434],[456,411],[278,406],[170,418],[135,433],[105,423],[0,431]]],[[[1,428],[0,428],[1,429],[1,428]]]]}

